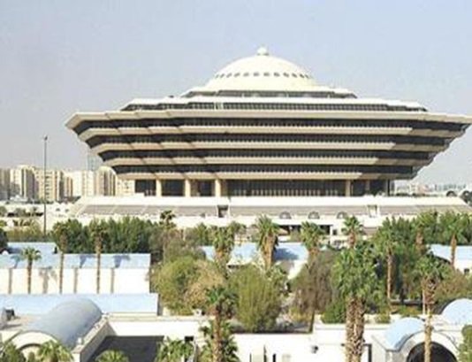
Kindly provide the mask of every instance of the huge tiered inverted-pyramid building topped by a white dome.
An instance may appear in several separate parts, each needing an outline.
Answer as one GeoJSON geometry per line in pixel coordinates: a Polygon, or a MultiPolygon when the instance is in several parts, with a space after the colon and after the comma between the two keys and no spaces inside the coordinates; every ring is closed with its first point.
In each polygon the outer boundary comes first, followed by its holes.
{"type": "Polygon", "coordinates": [[[471,122],[319,85],[260,49],[181,96],[67,127],[147,196],[361,196],[413,178],[471,122]]]}

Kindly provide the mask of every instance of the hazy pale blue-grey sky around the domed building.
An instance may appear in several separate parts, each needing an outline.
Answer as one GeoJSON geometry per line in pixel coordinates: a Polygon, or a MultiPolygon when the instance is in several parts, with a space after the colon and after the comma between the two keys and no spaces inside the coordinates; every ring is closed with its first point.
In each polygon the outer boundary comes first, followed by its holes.
{"type": "MultiPolygon", "coordinates": [[[[470,0],[0,0],[0,167],[84,168],[76,111],[179,94],[265,45],[359,96],[472,115],[470,0]]],[[[472,127],[419,176],[472,181],[472,127]]]]}

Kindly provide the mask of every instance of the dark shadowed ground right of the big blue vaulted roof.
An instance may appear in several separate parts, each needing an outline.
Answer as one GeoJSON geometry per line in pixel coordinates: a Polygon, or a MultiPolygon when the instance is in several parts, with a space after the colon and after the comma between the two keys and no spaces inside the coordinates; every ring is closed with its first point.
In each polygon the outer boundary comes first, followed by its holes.
{"type": "Polygon", "coordinates": [[[106,337],[88,362],[95,362],[95,358],[99,356],[103,350],[121,350],[126,354],[130,362],[154,362],[157,354],[157,343],[161,343],[162,340],[162,337],[154,336],[106,337]]]}

